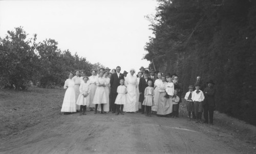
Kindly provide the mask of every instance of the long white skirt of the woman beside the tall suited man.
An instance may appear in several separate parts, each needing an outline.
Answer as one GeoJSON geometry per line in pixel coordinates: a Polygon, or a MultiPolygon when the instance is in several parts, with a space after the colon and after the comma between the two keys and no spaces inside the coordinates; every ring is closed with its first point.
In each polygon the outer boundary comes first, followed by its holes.
{"type": "Polygon", "coordinates": [[[137,99],[136,99],[136,85],[127,85],[126,104],[123,106],[124,112],[136,112],[137,111],[137,99]]]}

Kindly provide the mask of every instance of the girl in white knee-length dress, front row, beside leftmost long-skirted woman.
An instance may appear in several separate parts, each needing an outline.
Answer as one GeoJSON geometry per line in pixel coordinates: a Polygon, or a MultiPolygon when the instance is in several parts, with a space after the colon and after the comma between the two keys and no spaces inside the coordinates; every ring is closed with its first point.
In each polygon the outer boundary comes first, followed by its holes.
{"type": "Polygon", "coordinates": [[[79,87],[79,95],[76,104],[80,106],[80,115],[86,115],[86,106],[90,105],[90,84],[88,83],[88,76],[83,76],[83,82],[79,87]]]}

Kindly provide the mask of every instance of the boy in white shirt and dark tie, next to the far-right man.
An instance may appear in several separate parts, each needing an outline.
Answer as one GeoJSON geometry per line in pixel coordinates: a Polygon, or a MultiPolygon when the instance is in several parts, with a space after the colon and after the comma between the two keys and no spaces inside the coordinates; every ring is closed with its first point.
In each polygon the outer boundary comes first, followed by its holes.
{"type": "Polygon", "coordinates": [[[196,122],[202,122],[202,112],[203,112],[203,101],[204,101],[204,93],[200,90],[200,85],[197,84],[196,90],[192,93],[192,100],[194,101],[194,111],[196,115],[196,122]]]}

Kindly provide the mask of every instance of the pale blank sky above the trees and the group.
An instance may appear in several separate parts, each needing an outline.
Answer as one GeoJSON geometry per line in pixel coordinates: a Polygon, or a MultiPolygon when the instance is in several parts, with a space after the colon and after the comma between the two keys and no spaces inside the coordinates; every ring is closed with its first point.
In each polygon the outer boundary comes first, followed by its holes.
{"type": "Polygon", "coordinates": [[[37,42],[55,39],[91,63],[137,72],[150,63],[141,60],[153,35],[144,16],[156,7],[154,0],[0,1],[0,37],[21,25],[37,42]]]}

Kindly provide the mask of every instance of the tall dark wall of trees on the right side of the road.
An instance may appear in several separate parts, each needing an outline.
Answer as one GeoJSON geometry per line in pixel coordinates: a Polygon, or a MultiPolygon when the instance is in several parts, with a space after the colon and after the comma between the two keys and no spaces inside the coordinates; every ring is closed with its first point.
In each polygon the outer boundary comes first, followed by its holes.
{"type": "MultiPolygon", "coordinates": [[[[150,17],[148,17],[150,18],[150,17]]],[[[256,124],[256,6],[250,0],[159,0],[146,43],[156,69],[215,81],[217,110],[256,124]]]]}

